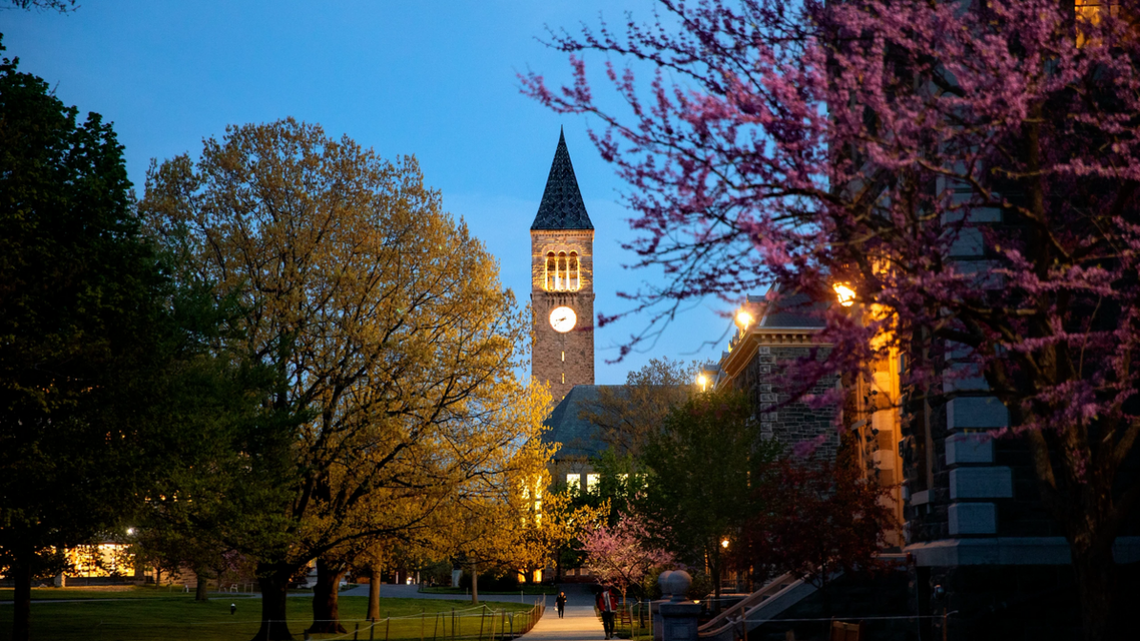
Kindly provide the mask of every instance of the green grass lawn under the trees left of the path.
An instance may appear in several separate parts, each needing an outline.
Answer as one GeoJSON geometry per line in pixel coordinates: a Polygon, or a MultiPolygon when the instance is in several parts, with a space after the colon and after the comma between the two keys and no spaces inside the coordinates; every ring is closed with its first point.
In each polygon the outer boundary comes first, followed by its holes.
{"type": "MultiPolygon", "coordinates": [[[[145,589],[144,589],[145,590],[145,589]]],[[[153,589],[152,589],[153,590],[153,589]]],[[[259,599],[218,595],[206,602],[197,602],[185,595],[170,598],[144,597],[123,601],[93,601],[79,603],[33,603],[32,638],[60,641],[247,641],[258,631],[261,614],[259,599]],[[233,598],[230,598],[233,597],[233,598]],[[230,603],[237,605],[237,614],[229,614],[230,603]]],[[[453,634],[453,620],[458,622],[454,632],[461,636],[479,636],[480,625],[483,638],[490,638],[494,618],[496,634],[503,625],[498,612],[526,611],[531,606],[523,603],[488,603],[491,610],[481,615],[470,602],[435,599],[381,599],[381,619],[376,624],[375,639],[420,639],[443,641],[453,634]],[[453,610],[455,616],[453,617],[453,610]]],[[[368,639],[367,597],[341,597],[341,620],[351,633],[360,624],[360,639],[368,639]]],[[[301,632],[312,622],[312,601],[303,597],[288,599],[290,631],[301,636],[301,632]]],[[[0,641],[11,638],[10,605],[0,606],[0,641]]],[[[514,622],[515,627],[521,618],[514,622]]],[[[507,618],[507,628],[511,628],[507,618]]],[[[336,635],[315,635],[328,639],[336,635]]]]}

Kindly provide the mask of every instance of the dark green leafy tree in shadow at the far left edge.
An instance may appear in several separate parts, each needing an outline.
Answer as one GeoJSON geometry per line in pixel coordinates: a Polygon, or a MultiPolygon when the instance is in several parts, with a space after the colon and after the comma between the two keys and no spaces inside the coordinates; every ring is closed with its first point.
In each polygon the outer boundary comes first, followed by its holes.
{"type": "Polygon", "coordinates": [[[0,62],[0,568],[17,640],[52,551],[113,532],[197,452],[166,409],[225,368],[211,306],[132,204],[109,124],[0,62]]]}

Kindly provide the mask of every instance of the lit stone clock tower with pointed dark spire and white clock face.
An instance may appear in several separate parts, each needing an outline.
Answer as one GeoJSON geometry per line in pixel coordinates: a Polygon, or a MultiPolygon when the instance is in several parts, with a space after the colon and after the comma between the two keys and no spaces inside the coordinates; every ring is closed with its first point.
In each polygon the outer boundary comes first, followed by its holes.
{"type": "Polygon", "coordinates": [[[594,384],[594,225],[561,133],[530,226],[530,373],[559,403],[575,386],[594,384]]]}

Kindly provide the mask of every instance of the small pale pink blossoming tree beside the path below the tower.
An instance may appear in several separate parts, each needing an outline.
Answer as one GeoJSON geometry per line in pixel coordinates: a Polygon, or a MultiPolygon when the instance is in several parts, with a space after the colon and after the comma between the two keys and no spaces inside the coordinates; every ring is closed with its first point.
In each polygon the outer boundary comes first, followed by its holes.
{"type": "Polygon", "coordinates": [[[613,585],[626,600],[630,585],[637,585],[654,568],[670,566],[673,554],[653,547],[645,522],[636,516],[624,516],[612,526],[601,526],[581,537],[586,552],[585,566],[592,575],[613,585]]]}

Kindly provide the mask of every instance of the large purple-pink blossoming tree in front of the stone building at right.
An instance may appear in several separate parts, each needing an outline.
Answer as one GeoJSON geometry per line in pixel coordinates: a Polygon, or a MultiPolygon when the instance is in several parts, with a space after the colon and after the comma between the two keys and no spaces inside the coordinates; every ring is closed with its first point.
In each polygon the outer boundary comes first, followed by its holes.
{"type": "MultiPolygon", "coordinates": [[[[1127,3],[661,2],[662,25],[555,34],[545,104],[591,113],[633,190],[643,302],[779,282],[829,314],[829,365],[898,349],[934,406],[994,395],[1072,550],[1086,639],[1112,634],[1113,543],[1140,501],[1140,39],[1127,3]],[[589,51],[632,111],[595,100],[589,51]],[[879,340],[871,336],[879,334],[879,340]]],[[[822,375],[822,374],[821,374],[822,375]]]]}

